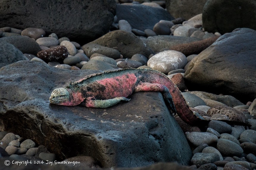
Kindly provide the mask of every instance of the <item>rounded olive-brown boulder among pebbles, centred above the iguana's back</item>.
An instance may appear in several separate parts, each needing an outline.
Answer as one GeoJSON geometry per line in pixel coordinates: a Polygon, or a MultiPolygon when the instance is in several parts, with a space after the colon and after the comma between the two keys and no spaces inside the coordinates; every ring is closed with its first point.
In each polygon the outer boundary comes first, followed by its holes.
{"type": "Polygon", "coordinates": [[[122,30],[111,31],[90,43],[116,49],[124,58],[132,58],[134,54],[142,54],[149,57],[150,54],[154,53],[133,33],[122,30]]]}

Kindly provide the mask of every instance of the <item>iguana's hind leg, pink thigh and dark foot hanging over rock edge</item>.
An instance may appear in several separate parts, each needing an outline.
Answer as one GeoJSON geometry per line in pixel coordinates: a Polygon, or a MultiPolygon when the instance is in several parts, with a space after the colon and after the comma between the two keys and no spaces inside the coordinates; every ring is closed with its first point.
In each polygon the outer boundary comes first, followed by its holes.
{"type": "Polygon", "coordinates": [[[168,109],[171,111],[171,113],[174,113],[174,115],[177,113],[175,106],[174,106],[174,102],[171,97],[171,94],[166,86],[164,86],[162,84],[158,84],[158,83],[147,83],[147,82],[141,81],[135,87],[135,92],[146,92],[146,91],[161,92],[163,94],[165,103],[166,103],[168,109]]]}

